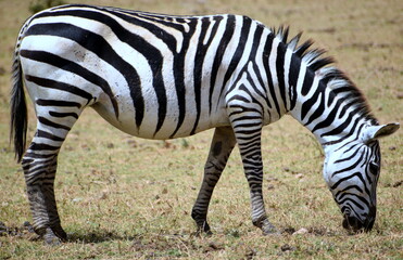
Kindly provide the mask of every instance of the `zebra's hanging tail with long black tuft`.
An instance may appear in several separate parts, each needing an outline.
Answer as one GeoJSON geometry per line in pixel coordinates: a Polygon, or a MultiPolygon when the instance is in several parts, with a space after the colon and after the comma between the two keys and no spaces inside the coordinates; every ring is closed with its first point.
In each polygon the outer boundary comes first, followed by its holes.
{"type": "Polygon", "coordinates": [[[20,162],[26,145],[26,132],[28,126],[27,107],[23,82],[23,72],[20,61],[20,42],[17,41],[12,66],[12,89],[10,100],[10,143],[14,142],[15,158],[20,162]]]}

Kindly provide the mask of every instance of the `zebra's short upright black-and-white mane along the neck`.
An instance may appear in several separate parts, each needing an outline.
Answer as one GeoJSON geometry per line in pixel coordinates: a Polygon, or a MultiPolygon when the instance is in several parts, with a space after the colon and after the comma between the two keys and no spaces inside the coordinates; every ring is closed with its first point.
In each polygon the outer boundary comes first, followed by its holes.
{"type": "Polygon", "coordinates": [[[323,49],[312,49],[313,40],[306,40],[298,46],[302,32],[299,32],[290,41],[287,41],[289,27],[280,26],[277,30],[272,28],[274,36],[292,50],[293,53],[305,63],[307,69],[320,75],[325,88],[330,88],[336,95],[342,95],[349,104],[357,108],[362,115],[368,118],[373,123],[378,125],[377,119],[371,115],[369,105],[361,90],[349,79],[349,77],[339,68],[332,66],[336,63],[331,56],[323,56],[326,53],[323,49]]]}

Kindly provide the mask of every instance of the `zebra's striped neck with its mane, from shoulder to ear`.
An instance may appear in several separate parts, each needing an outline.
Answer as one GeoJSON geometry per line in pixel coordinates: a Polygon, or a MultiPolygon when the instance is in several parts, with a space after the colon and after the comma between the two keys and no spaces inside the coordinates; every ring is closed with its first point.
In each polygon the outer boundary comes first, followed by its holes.
{"type": "MultiPolygon", "coordinates": [[[[356,140],[368,126],[378,125],[354,83],[338,68],[322,57],[324,51],[310,49],[312,41],[298,47],[300,35],[287,42],[288,29],[274,32],[268,56],[267,90],[274,99],[279,117],[290,113],[325,144],[356,140]]],[[[273,110],[273,109],[272,109],[273,110]]],[[[276,118],[277,119],[277,118],[276,118]]]]}

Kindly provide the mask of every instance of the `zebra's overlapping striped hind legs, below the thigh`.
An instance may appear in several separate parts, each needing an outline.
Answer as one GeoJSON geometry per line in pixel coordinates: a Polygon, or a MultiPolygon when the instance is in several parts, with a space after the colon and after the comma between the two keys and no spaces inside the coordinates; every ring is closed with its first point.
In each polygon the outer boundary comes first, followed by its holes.
{"type": "Polygon", "coordinates": [[[47,244],[59,244],[67,238],[61,226],[53,183],[60,147],[78,115],[39,110],[37,132],[22,160],[33,226],[47,244]]]}

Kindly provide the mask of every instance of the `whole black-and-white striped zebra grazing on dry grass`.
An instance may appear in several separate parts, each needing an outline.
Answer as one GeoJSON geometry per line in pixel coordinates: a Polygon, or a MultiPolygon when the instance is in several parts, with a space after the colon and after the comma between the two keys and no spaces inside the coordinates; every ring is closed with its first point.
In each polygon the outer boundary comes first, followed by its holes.
{"type": "Polygon", "coordinates": [[[90,106],[122,131],[144,139],[189,136],[215,128],[192,209],[210,232],[209,203],[238,144],[250,186],[252,222],[276,232],[265,211],[262,127],[290,114],[323,145],[324,177],[343,226],[369,231],[380,169],[377,139],[399,123],[378,125],[365,99],[332,60],[240,15],[171,16],[116,8],[63,5],[22,27],[11,94],[11,138],[22,160],[34,229],[47,243],[65,239],[53,182],[68,131],[90,106]],[[23,82],[37,131],[25,153],[23,82]],[[25,153],[25,154],[24,154],[25,153]]]}

